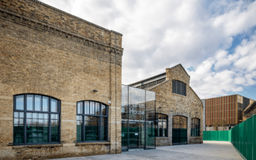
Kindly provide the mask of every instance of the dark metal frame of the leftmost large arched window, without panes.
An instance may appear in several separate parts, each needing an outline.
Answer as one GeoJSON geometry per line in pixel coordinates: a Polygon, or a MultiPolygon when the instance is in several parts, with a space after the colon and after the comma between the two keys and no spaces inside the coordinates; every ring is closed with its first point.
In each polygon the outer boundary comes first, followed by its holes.
{"type": "MultiPolygon", "coordinates": [[[[41,106],[43,108],[43,100],[41,102],[41,106]]],[[[61,100],[56,99],[54,97],[51,97],[49,95],[42,95],[42,94],[36,94],[36,93],[24,93],[24,94],[18,94],[13,95],[13,122],[14,122],[14,112],[23,112],[24,113],[24,143],[14,143],[14,129],[13,129],[13,145],[46,145],[46,144],[60,144],[60,138],[61,138],[61,100]],[[24,95],[24,109],[16,109],[16,96],[24,95]],[[49,111],[30,111],[27,110],[27,95],[34,95],[34,109],[35,109],[35,95],[40,95],[44,97],[49,98],[49,111]],[[58,102],[58,112],[51,112],[51,99],[57,100],[58,102]],[[47,143],[27,143],[27,113],[48,113],[49,114],[49,132],[48,132],[48,142],[47,143]],[[51,114],[58,114],[59,115],[59,127],[58,127],[58,142],[51,142],[51,114]]],[[[37,118],[38,119],[38,118],[37,118]]],[[[14,123],[13,123],[14,127],[14,123]]]]}

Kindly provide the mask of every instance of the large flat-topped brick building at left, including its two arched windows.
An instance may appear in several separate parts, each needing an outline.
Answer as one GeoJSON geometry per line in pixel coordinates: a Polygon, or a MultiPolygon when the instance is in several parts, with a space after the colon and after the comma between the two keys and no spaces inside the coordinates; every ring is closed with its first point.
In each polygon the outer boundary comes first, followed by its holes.
{"type": "Polygon", "coordinates": [[[0,1],[0,159],[121,152],[122,35],[0,1]]]}

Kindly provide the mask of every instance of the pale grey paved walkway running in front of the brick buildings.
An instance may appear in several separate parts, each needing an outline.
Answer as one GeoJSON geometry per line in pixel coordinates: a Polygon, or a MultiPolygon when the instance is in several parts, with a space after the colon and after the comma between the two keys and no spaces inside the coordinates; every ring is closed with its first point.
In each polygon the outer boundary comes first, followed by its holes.
{"type": "Polygon", "coordinates": [[[58,160],[133,160],[133,159],[239,159],[243,160],[236,152],[231,143],[226,141],[204,141],[198,145],[175,145],[167,147],[156,147],[156,150],[136,150],[122,152],[122,154],[107,154],[100,156],[73,157],[58,160]]]}

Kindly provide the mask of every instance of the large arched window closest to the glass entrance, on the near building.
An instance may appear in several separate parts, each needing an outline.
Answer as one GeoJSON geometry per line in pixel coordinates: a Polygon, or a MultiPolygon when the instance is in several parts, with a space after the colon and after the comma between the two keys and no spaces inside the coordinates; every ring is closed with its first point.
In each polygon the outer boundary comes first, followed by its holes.
{"type": "Polygon", "coordinates": [[[108,141],[108,106],[100,102],[77,102],[77,141],[108,141]]]}

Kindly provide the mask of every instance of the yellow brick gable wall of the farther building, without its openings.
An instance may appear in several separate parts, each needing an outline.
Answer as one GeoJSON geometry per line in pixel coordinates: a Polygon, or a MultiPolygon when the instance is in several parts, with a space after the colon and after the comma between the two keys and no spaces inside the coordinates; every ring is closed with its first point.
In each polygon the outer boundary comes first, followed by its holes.
{"type": "Polygon", "coordinates": [[[150,89],[156,92],[156,113],[168,115],[168,138],[156,138],[156,146],[172,145],[172,116],[181,115],[188,118],[188,144],[203,142],[202,101],[189,86],[189,76],[181,65],[166,68],[166,81],[150,89]],[[172,93],[172,80],[186,83],[186,96],[172,93]],[[161,108],[159,108],[159,106],[161,108]],[[200,137],[191,137],[191,118],[200,119],[200,137]]]}

